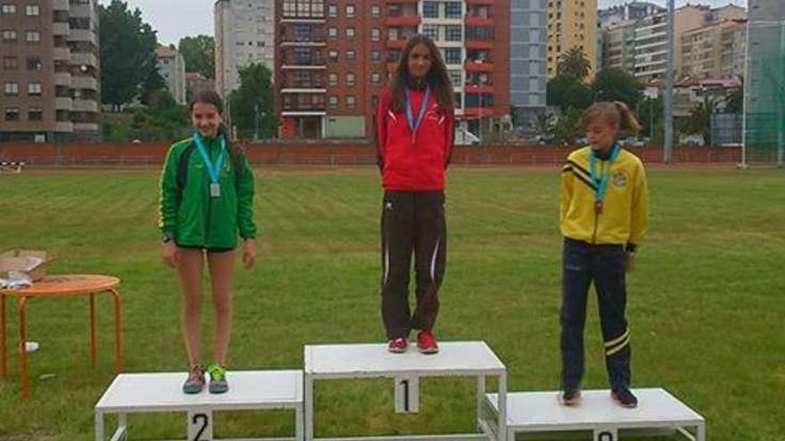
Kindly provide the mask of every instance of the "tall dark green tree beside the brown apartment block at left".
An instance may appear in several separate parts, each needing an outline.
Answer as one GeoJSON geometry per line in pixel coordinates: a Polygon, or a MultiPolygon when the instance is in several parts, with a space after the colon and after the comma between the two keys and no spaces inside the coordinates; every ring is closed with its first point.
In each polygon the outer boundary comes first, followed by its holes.
{"type": "Polygon", "coordinates": [[[158,38],[142,20],[142,12],[138,8],[131,12],[121,0],[112,0],[108,6],[99,4],[98,14],[102,102],[118,110],[140,94],[145,80],[157,73],[158,38]]]}

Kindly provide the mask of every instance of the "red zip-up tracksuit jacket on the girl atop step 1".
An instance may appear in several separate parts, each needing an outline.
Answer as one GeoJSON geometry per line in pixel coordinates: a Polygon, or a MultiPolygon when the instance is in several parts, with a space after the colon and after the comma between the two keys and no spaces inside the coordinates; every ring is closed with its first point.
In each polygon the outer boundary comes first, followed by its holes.
{"type": "MultiPolygon", "coordinates": [[[[409,89],[415,118],[425,90],[409,89]]],[[[455,114],[442,109],[433,90],[417,134],[413,135],[406,111],[390,109],[392,91],[385,88],[376,109],[376,148],[384,190],[436,192],[444,190],[444,171],[450,163],[455,114]]]]}

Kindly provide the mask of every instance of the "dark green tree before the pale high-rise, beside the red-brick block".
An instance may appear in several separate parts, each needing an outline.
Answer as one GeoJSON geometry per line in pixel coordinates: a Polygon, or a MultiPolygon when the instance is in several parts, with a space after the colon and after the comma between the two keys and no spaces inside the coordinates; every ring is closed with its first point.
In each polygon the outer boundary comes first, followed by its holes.
{"type": "Polygon", "coordinates": [[[243,135],[273,138],[278,118],[273,105],[272,73],[263,64],[253,63],[240,70],[240,87],[229,95],[231,124],[243,135]]]}

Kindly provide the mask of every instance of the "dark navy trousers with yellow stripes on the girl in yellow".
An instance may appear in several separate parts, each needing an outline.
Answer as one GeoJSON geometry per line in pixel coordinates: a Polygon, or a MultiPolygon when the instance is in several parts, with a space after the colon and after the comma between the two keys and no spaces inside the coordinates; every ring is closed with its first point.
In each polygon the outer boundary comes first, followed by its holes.
{"type": "Polygon", "coordinates": [[[591,245],[566,238],[562,260],[562,388],[580,388],[583,379],[583,326],[586,300],[594,282],[605,340],[607,377],[614,390],[630,386],[630,333],[623,245],[591,245]]]}

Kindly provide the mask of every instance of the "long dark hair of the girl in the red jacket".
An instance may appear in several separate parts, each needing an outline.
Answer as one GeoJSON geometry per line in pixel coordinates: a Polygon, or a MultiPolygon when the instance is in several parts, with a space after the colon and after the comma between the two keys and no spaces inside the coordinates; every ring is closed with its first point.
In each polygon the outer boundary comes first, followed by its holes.
{"type": "Polygon", "coordinates": [[[401,58],[398,60],[395,75],[390,81],[392,91],[390,109],[399,112],[406,106],[406,87],[414,84],[414,78],[409,73],[409,53],[414,49],[414,46],[420,44],[426,45],[428,51],[431,52],[431,69],[428,69],[428,73],[426,73],[426,84],[434,90],[439,107],[442,110],[451,111],[455,107],[455,94],[452,91],[452,82],[447,73],[447,66],[445,66],[442,53],[434,44],[434,40],[422,34],[409,37],[409,41],[401,53],[401,58]]]}

